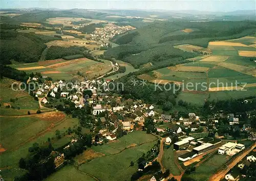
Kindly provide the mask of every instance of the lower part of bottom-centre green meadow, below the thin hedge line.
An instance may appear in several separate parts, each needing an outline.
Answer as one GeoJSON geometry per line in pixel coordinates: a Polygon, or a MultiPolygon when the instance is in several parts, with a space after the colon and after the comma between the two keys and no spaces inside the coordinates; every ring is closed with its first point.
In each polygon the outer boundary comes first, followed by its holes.
{"type": "Polygon", "coordinates": [[[117,154],[96,158],[81,165],[79,170],[94,175],[100,180],[130,180],[132,174],[137,171],[137,159],[150,150],[154,144],[154,142],[145,143],[127,148],[117,154]],[[130,166],[131,161],[135,163],[135,166],[130,166]]]}

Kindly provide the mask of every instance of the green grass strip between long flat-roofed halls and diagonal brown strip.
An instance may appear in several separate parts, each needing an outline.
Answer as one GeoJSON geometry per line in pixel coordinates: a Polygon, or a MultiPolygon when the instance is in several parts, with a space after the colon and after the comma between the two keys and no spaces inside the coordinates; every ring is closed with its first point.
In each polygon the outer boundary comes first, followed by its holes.
{"type": "Polygon", "coordinates": [[[227,155],[214,154],[210,156],[204,163],[199,165],[196,171],[191,172],[189,175],[184,175],[186,178],[193,178],[197,181],[208,180],[220,166],[225,164],[230,159],[227,155]]]}

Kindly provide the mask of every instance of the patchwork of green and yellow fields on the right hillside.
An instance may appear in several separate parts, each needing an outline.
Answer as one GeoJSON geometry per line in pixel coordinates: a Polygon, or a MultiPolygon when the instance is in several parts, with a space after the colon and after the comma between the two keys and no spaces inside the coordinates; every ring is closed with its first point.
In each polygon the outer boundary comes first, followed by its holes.
{"type": "MultiPolygon", "coordinates": [[[[184,87],[178,100],[182,99],[199,105],[202,105],[205,100],[218,99],[218,96],[225,100],[252,96],[256,85],[256,63],[252,57],[256,57],[256,51],[252,51],[255,49],[248,45],[255,44],[255,40],[254,36],[246,36],[233,40],[209,42],[208,49],[212,51],[212,55],[190,58],[189,63],[158,69],[139,75],[138,78],[152,83],[176,82],[181,84],[184,82],[184,85],[189,84],[189,86],[193,84],[194,88],[184,87]],[[246,85],[243,89],[244,84],[246,85]],[[205,90],[205,86],[208,89],[205,90]]],[[[189,44],[177,47],[182,46],[189,47],[189,44]]]]}

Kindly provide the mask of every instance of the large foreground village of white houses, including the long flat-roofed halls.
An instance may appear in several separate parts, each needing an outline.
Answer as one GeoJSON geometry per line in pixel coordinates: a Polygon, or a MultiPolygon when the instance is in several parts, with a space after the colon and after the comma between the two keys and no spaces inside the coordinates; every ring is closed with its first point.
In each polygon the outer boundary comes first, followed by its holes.
{"type": "MultiPolygon", "coordinates": [[[[38,77],[33,77],[31,81],[36,82],[38,79],[38,77]]],[[[200,160],[202,156],[216,151],[218,154],[232,157],[247,149],[248,145],[233,142],[230,138],[234,140],[256,140],[256,133],[250,122],[240,121],[242,115],[239,112],[214,112],[209,115],[208,120],[202,119],[200,115],[196,115],[194,112],[189,112],[187,115],[180,115],[178,112],[167,115],[163,114],[162,110],[153,104],[146,104],[141,100],[125,100],[121,96],[112,93],[109,90],[110,82],[111,80],[103,79],[74,83],[67,83],[64,80],[56,82],[48,80],[39,85],[42,88],[38,88],[34,92],[34,96],[38,98],[42,106],[52,109],[63,110],[65,108],[63,106],[63,109],[61,109],[59,105],[53,103],[58,99],[69,100],[73,103],[75,109],[90,107],[90,115],[94,121],[86,124],[89,124],[89,127],[93,130],[92,143],[94,145],[113,142],[120,137],[120,134],[125,137],[126,134],[134,130],[144,130],[147,133],[157,135],[164,141],[164,144],[160,144],[157,150],[159,154],[161,149],[164,150],[166,147],[173,145],[178,160],[183,162],[184,165],[193,164],[197,162],[198,158],[200,160]],[[145,122],[147,122],[146,126],[145,122]],[[194,138],[194,134],[198,133],[202,133],[202,136],[194,138]],[[231,142],[228,140],[231,140],[231,142]]],[[[245,103],[248,101],[244,100],[245,103]]],[[[255,118],[255,116],[255,111],[246,112],[248,120],[255,118]]],[[[77,139],[72,139],[70,144],[63,149],[69,149],[77,141],[77,139]]],[[[248,155],[247,159],[241,160],[238,168],[234,167],[234,169],[242,170],[244,166],[248,166],[251,162],[249,159],[255,159],[255,155],[248,155]]],[[[65,155],[58,152],[55,157],[56,167],[64,162],[65,155]]],[[[138,171],[148,169],[152,165],[152,161],[143,163],[144,165],[140,165],[138,171]]],[[[163,170],[162,168],[161,174],[158,171],[151,180],[165,180],[163,170]]],[[[225,178],[236,180],[239,176],[245,177],[244,174],[236,175],[231,170],[225,178]]]]}

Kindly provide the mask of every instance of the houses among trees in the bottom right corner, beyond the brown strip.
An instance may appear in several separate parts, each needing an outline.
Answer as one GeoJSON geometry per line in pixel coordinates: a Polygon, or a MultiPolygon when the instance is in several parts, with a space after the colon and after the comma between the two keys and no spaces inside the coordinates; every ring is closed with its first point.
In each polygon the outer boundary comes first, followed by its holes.
{"type": "MultiPolygon", "coordinates": [[[[254,149],[252,152],[247,154],[242,161],[240,161],[236,166],[229,170],[229,172],[225,175],[225,179],[223,180],[240,180],[249,178],[246,175],[246,170],[250,167],[251,163],[256,162],[256,150],[254,149]],[[245,170],[245,171],[243,171],[245,170]]],[[[251,179],[250,179],[251,180],[251,179]]]]}

